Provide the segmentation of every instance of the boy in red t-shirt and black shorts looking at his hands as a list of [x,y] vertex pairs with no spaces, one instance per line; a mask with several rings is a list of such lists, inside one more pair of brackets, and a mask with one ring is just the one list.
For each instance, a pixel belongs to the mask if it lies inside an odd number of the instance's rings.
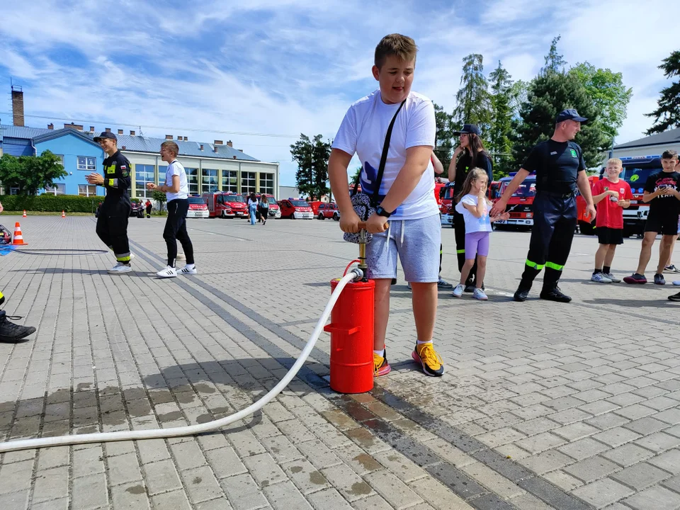
[[597,283],[620,283],[611,274],[616,245],[623,244],[623,209],[630,206],[633,193],[628,183],[618,179],[623,166],[621,159],[607,162],[604,179],[593,186],[593,203],[597,204],[595,227],[600,244],[595,253],[595,272],[590,280]]

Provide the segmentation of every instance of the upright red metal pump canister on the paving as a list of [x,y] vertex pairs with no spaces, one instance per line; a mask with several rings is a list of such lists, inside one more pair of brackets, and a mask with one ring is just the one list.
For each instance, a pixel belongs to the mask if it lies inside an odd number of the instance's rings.
[[[339,278],[331,280],[331,293]],[[331,312],[324,331],[331,334],[331,390],[373,390],[373,297],[375,282],[350,282]]]

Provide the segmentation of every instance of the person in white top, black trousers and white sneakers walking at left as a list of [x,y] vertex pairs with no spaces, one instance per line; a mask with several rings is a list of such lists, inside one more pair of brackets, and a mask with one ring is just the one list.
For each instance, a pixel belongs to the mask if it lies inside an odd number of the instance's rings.
[[148,183],[150,190],[163,191],[168,198],[168,219],[165,222],[163,238],[168,246],[168,266],[161,269],[156,276],[159,278],[175,278],[177,270],[175,263],[177,259],[177,239],[182,244],[184,255],[186,256],[186,266],[179,273],[196,274],[196,264],[193,261],[193,245],[189,234],[186,232],[186,212],[189,209],[189,186],[186,179],[184,166],[177,161],[179,147],[175,142],[166,140],[161,144],[161,158],[168,163],[165,176],[165,184],[157,186]]

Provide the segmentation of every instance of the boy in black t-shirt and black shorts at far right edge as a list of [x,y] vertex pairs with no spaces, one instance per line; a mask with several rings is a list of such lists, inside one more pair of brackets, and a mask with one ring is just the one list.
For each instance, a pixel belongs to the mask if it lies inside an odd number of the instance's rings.
[[645,238],[642,239],[638,269],[633,276],[623,278],[625,283],[647,283],[645,268],[652,257],[652,244],[657,234],[662,234],[662,247],[659,253],[659,265],[654,275],[654,283],[665,285],[664,266],[671,254],[673,239],[678,235],[678,215],[680,213],[680,173],[675,171],[678,153],[667,150],[661,155],[663,170],[650,175],[645,183],[645,194],[642,200],[650,204],[650,214],[645,223]]

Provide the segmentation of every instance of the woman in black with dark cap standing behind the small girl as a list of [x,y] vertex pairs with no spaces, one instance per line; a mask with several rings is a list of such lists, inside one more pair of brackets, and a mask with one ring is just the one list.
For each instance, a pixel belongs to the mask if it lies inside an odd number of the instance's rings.
[[[448,180],[453,182],[453,206],[455,206],[458,193],[463,191],[463,183],[468,172],[473,168],[480,168],[487,172],[489,186],[494,180],[491,159],[482,145],[480,138],[480,128],[474,124],[464,124],[463,129],[453,132],[460,135],[460,144],[456,147],[448,166]],[[460,212],[455,208],[451,209],[453,214],[453,228],[455,229],[455,253],[458,258],[458,271],[463,271],[465,263],[465,220]],[[475,277],[477,276],[477,261],[470,269],[470,276],[465,282],[465,292],[475,290]]]

